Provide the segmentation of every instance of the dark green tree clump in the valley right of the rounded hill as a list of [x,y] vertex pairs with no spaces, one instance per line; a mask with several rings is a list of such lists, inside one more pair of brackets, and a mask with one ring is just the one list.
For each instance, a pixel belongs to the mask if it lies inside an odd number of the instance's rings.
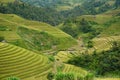
[[82,37],[86,40],[86,42],[89,42],[90,39],[100,34],[100,30],[98,28],[94,28],[93,26],[96,24],[93,23],[95,22],[87,21],[84,18],[79,21],[67,20],[62,26],[60,26],[60,29],[70,34],[74,38],[78,38],[82,34],[86,34],[82,35]]

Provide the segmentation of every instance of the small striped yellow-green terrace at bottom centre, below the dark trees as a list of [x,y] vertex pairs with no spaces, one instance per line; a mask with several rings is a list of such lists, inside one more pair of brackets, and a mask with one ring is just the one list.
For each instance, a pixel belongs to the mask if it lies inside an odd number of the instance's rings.
[[75,73],[76,75],[80,74],[81,76],[85,76],[87,74],[87,71],[85,71],[84,69],[70,64],[65,64],[63,72],[64,73],[71,72],[71,73]]

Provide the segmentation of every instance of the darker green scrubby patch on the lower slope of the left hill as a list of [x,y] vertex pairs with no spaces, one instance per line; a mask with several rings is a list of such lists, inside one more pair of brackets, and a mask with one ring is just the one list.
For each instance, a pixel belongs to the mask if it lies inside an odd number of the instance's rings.
[[[47,31],[35,31],[24,27],[19,27],[18,34],[23,37],[23,40],[28,47],[33,50],[62,50],[76,44],[76,41],[71,36],[54,36]],[[64,33],[62,33],[64,34]],[[32,35],[32,37],[31,37]],[[27,38],[27,39],[26,39]],[[66,44],[66,45],[64,45]]]

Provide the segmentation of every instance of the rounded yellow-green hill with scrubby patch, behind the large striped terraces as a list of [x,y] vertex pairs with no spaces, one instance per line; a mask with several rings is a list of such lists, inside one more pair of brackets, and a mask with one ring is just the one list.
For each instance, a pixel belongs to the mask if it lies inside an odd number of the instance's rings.
[[27,49],[67,49],[76,44],[70,35],[55,27],[14,14],[0,14],[0,28],[0,36],[7,42]]

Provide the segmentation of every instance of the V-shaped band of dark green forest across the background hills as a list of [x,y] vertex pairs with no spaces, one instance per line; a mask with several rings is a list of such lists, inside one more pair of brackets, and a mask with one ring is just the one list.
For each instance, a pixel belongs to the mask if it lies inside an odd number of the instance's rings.
[[118,8],[119,5],[119,0],[116,0],[112,5],[104,1],[96,2],[95,0],[89,0],[84,1],[83,4],[73,9],[57,11],[52,7],[36,7],[16,0],[14,3],[7,3],[6,5],[0,3],[0,12],[17,14],[30,20],[42,21],[55,26],[64,22],[66,19],[75,18],[83,14],[99,14],[109,9]]

